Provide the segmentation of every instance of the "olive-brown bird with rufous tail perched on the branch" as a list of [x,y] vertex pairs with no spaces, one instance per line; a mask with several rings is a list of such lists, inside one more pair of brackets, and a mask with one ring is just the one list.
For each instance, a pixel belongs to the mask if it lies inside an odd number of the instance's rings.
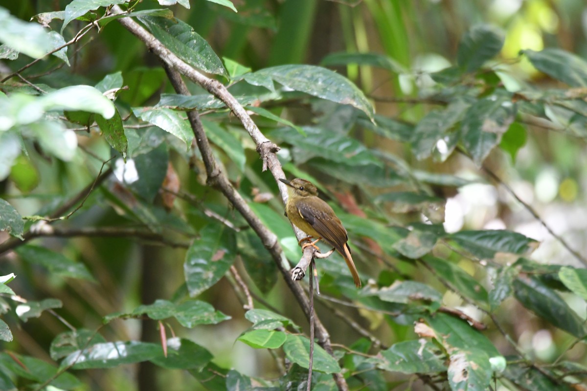
[[[323,239],[330,246],[342,255],[349,267],[350,274],[357,288],[361,287],[359,273],[350,256],[350,248],[346,243],[349,237],[346,235],[346,229],[342,226],[340,219],[336,217],[334,210],[330,205],[321,198],[318,198],[316,186],[305,179],[296,178],[292,181],[279,179],[289,186],[288,202],[285,205],[285,215],[309,236],[305,239],[316,238]],[[303,239],[302,239],[303,240]],[[315,243],[315,242],[313,242]],[[305,246],[303,246],[305,247]],[[302,248],[303,248],[302,247]]]

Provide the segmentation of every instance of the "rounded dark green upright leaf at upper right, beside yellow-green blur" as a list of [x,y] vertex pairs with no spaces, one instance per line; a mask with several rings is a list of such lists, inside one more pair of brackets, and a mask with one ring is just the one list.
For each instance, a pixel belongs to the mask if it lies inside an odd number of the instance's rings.
[[473,26],[458,45],[457,63],[463,72],[473,72],[496,56],[504,45],[504,33],[489,25]]

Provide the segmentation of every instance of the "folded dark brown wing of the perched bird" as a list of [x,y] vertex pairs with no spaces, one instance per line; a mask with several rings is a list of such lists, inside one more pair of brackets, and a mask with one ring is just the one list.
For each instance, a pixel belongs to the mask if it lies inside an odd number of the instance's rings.
[[[328,203],[325,202],[325,205],[331,209]],[[300,216],[320,234],[322,239],[344,253],[345,243],[348,240],[346,229],[333,212],[322,212],[305,202],[299,202],[296,207]]]

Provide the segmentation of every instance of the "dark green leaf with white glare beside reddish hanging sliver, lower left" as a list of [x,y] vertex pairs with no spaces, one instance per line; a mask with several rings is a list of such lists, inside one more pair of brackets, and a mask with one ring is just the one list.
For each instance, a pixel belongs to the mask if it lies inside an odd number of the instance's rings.
[[200,369],[214,358],[203,346],[185,338],[167,339],[167,357],[151,359],[155,365],[166,369]]

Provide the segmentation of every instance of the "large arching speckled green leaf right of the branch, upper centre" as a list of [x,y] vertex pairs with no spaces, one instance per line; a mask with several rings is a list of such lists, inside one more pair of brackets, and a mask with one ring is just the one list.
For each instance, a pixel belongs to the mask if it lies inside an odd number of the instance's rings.
[[340,104],[350,104],[373,118],[373,106],[365,94],[346,77],[331,70],[312,65],[281,65],[245,74],[244,79],[254,86],[264,86],[269,90],[271,80],[295,91],[330,100]]

